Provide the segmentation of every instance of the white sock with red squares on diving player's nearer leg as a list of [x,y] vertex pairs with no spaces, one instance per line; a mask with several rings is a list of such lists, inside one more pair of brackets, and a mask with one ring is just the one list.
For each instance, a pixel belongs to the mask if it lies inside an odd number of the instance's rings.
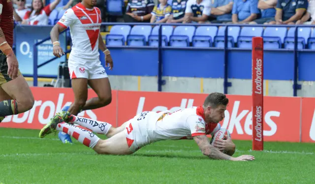
[[92,149],[95,147],[96,143],[99,140],[99,137],[97,137],[93,132],[79,128],[73,124],[68,124],[64,122],[58,123],[56,129],[71,135],[80,143]]

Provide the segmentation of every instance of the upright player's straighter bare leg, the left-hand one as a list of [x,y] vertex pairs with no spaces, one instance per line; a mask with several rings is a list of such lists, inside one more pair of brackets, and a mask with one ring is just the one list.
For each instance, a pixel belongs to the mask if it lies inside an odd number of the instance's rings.
[[74,93],[74,102],[70,105],[68,112],[77,115],[85,106],[88,99],[88,79],[75,78],[71,80],[72,90]]

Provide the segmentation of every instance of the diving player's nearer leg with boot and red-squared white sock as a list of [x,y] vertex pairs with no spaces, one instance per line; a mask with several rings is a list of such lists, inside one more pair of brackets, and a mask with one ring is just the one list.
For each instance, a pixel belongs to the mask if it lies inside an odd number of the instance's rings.
[[131,154],[129,150],[125,132],[120,132],[115,136],[101,140],[93,132],[82,129],[73,124],[64,123],[62,117],[57,114],[52,118],[50,123],[47,123],[40,131],[39,137],[44,138],[46,135],[63,131],[70,134],[73,138],[81,142],[87,147],[95,150],[99,154]]

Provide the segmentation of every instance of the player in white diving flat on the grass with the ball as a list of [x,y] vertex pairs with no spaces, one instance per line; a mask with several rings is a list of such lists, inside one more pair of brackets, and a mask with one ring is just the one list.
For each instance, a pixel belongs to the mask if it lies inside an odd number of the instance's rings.
[[[63,131],[95,150],[99,154],[132,154],[141,147],[161,140],[194,139],[201,152],[210,158],[233,161],[254,160],[252,155],[232,157],[235,145],[230,139],[221,140],[222,153],[212,146],[206,134],[214,134],[221,128],[228,99],[225,94],[211,93],[199,107],[186,108],[175,112],[142,112],[118,128],[111,124],[76,117],[63,111],[51,119],[40,131],[39,137]],[[79,128],[73,123],[87,127],[96,133],[105,134],[101,140],[93,132]]]

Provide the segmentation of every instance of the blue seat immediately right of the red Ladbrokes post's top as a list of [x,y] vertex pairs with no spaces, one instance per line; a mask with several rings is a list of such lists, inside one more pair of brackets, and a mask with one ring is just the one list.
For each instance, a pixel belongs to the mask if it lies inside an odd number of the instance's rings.
[[284,43],[287,28],[266,27],[263,33],[264,49],[280,49]]

